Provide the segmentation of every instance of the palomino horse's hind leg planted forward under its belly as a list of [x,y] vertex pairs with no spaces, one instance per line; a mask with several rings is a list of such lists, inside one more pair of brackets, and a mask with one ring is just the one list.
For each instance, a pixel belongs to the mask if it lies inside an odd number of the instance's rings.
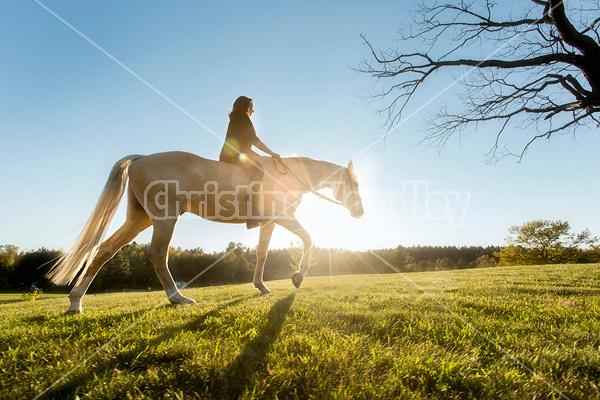
[[176,223],[176,218],[152,221],[154,232],[152,233],[152,242],[150,244],[150,250],[148,251],[148,257],[150,258],[154,270],[158,275],[158,280],[165,289],[165,292],[167,292],[167,297],[171,303],[195,303],[196,301],[189,297],[185,297],[181,294],[179,289],[177,289],[167,265],[169,259],[169,243],[173,237],[173,230],[175,229]]

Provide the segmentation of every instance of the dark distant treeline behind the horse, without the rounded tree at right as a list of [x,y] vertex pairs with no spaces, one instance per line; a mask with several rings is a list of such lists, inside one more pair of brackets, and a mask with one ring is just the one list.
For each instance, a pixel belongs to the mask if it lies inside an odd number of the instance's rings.
[[[148,246],[133,242],[121,249],[100,270],[90,290],[160,288],[154,268],[146,256]],[[373,253],[389,263],[391,268],[370,251],[314,248],[309,274],[380,274],[394,272],[394,268],[411,272],[492,267],[497,264],[494,253],[500,249],[499,246],[398,246],[375,250]],[[271,250],[265,266],[265,280],[291,277],[301,254],[299,247]],[[59,251],[44,248],[23,252],[15,246],[0,246],[0,289],[23,290],[29,289],[32,284],[44,290],[57,289],[48,282],[45,274],[60,255]],[[190,286],[251,282],[255,262],[254,250],[240,243],[230,243],[220,252],[175,248],[169,253],[169,268],[177,282],[190,282],[210,268]]]

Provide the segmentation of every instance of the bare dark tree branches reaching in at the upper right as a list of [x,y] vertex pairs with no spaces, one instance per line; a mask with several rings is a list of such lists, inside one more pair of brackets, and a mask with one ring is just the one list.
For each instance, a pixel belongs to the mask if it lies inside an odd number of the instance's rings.
[[[428,145],[444,147],[469,125],[497,121],[488,159],[506,153],[522,158],[538,139],[599,126],[600,10],[567,10],[563,0],[530,0],[531,7],[513,18],[498,15],[490,0],[432,6],[425,1],[413,15],[414,25],[400,32],[402,50],[376,50],[363,36],[371,59],[357,70],[393,82],[373,95],[388,101],[380,111],[387,113],[390,130],[425,82],[456,68],[464,72],[457,80],[462,108],[444,107],[427,119]],[[572,18],[577,14],[579,21]],[[415,41],[416,51],[404,50]],[[488,55],[464,57],[475,52]],[[506,149],[497,154],[509,124],[527,129],[531,137],[519,153]]]

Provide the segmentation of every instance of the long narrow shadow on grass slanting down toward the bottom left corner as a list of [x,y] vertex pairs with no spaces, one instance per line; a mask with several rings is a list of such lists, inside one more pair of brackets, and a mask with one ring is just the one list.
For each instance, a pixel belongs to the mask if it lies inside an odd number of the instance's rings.
[[[90,360],[90,363],[93,364],[93,370],[87,370],[83,372],[73,371],[73,375],[66,378],[65,382],[59,383],[54,388],[50,389],[43,398],[52,398],[52,399],[65,399],[65,398],[74,398],[77,395],[84,394],[86,391],[86,386],[89,382],[97,380],[98,377],[105,376],[109,374],[111,371],[115,370],[117,367],[119,369],[135,369],[129,367],[131,363],[144,351],[145,348],[158,346],[162,342],[166,342],[170,339],[173,339],[177,334],[183,331],[192,331],[200,329],[206,320],[210,317],[219,316],[227,308],[236,306],[237,304],[249,300],[255,296],[241,296],[234,300],[231,300],[227,303],[221,304],[216,308],[207,311],[206,313],[198,316],[194,320],[184,324],[177,325],[165,328],[162,331],[162,334],[150,341],[141,342],[135,348],[120,353],[116,357],[105,361],[98,362],[98,360]],[[168,306],[167,306],[168,307]],[[135,314],[141,314],[136,312]],[[123,316],[121,316],[122,318]],[[117,318],[117,316],[115,316]],[[120,318],[120,319],[121,319]],[[163,360],[154,360],[154,361],[162,361],[162,362],[175,362],[178,361],[179,355],[174,354],[172,357]],[[83,366],[82,368],[85,368]],[[69,371],[65,371],[65,373],[69,373]]]

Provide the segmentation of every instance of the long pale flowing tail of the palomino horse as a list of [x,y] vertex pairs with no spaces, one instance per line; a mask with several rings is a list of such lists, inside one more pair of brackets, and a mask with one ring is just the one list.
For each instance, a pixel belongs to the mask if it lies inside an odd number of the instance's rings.
[[90,215],[83,231],[79,234],[75,244],[54,264],[47,274],[50,281],[56,285],[68,285],[81,271],[77,283],[85,275],[85,271],[92,264],[98,247],[106,234],[110,221],[115,215],[117,206],[125,192],[127,184],[127,170],[132,162],[141,155],[130,155],[119,160],[110,171],[106,185],[100,194],[96,208]]

